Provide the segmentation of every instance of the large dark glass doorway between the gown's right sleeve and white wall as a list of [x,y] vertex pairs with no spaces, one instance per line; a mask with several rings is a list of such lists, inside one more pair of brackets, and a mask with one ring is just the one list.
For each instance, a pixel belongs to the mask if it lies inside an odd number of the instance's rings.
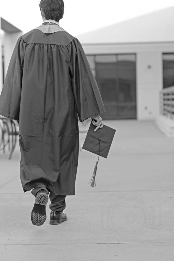
[[96,80],[106,108],[105,119],[136,119],[136,59],[96,55]]

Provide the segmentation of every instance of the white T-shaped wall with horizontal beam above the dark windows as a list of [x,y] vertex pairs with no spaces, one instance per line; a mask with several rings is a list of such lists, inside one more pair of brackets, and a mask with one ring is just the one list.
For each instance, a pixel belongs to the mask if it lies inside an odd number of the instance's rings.
[[[162,53],[173,52],[173,43],[85,45],[86,55],[135,53],[137,79],[137,119],[159,115],[159,92],[163,88]],[[148,68],[151,66],[151,68]]]

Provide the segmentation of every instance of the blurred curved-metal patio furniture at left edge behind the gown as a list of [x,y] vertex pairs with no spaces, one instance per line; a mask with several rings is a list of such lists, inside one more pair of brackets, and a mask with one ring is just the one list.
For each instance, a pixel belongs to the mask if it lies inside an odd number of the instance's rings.
[[16,146],[17,135],[19,135],[19,130],[14,121],[0,117],[0,151],[5,153],[8,147],[8,151],[10,151],[9,159],[11,159]]

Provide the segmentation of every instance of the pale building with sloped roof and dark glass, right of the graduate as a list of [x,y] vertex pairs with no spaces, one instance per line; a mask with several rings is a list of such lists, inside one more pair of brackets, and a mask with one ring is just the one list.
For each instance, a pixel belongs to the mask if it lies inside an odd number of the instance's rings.
[[174,8],[79,35],[106,107],[104,119],[156,119],[174,85]]

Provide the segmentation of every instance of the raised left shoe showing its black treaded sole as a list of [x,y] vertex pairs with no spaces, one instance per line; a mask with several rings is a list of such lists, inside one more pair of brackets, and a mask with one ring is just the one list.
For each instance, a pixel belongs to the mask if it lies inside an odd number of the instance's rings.
[[41,226],[46,220],[46,204],[48,195],[46,192],[39,191],[35,198],[35,204],[31,211],[31,222],[35,226]]

